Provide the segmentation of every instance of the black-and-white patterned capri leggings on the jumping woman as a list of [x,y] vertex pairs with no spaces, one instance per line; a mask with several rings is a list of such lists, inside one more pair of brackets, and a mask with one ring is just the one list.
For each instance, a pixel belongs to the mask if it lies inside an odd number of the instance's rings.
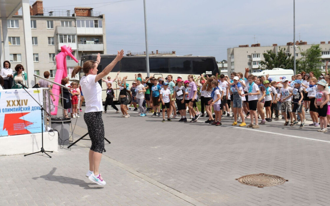
[[102,154],[104,149],[104,124],[102,120],[102,112],[84,113],[83,119],[87,125],[89,138],[92,141],[90,150]]

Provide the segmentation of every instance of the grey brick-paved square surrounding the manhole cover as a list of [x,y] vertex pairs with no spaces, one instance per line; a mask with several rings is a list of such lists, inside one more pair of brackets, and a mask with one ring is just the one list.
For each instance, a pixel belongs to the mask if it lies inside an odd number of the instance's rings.
[[[282,121],[253,130],[232,127],[230,118],[215,127],[205,118],[162,123],[130,114],[103,114],[111,141],[100,165],[105,187],[84,176],[90,141],[81,140],[51,159],[0,157],[0,205],[329,205],[330,132]],[[72,122],[76,140],[87,130],[83,118]],[[254,173],[289,181],[265,188],[235,181]]]

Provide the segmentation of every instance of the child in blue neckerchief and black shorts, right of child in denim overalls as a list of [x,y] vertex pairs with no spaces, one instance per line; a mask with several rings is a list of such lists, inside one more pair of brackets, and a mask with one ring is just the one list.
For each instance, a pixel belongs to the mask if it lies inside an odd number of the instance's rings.
[[[260,94],[259,87],[256,83],[254,83],[254,75],[250,74],[248,75],[248,84],[247,84],[247,90],[248,90],[248,106],[250,108],[250,119],[251,124],[248,125],[248,127],[251,127],[253,129],[259,128],[258,125],[258,116],[257,116],[257,103],[258,103],[258,95]],[[255,125],[253,125],[253,117],[255,120]]]

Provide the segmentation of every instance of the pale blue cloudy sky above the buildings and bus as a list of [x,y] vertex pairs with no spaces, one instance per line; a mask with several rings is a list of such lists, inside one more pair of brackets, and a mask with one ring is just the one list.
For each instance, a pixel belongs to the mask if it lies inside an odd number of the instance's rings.
[[[45,9],[92,7],[106,16],[107,53],[143,52],[143,0],[44,1]],[[293,41],[293,0],[146,0],[149,52],[215,56],[240,44],[285,45]],[[32,3],[31,3],[32,4]],[[63,6],[63,7],[58,7]],[[296,0],[296,39],[330,41],[328,0]],[[56,7],[56,8],[55,8]],[[255,35],[255,39],[254,39]]]

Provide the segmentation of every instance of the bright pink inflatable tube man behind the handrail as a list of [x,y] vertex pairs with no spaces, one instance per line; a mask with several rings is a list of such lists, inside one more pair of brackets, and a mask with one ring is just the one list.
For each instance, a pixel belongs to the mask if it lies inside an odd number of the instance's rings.
[[[61,80],[68,76],[67,73],[67,68],[66,68],[66,56],[69,55],[72,59],[74,59],[77,63],[78,60],[76,59],[76,57],[71,53],[71,47],[67,47],[66,45],[61,46],[61,52],[58,53],[55,58],[56,58],[56,74],[55,74],[55,82],[56,83],[61,83]],[[52,88],[52,93],[59,96],[60,94],[60,87],[56,84],[53,85]],[[59,97],[55,96],[55,110],[53,112],[51,112],[51,115],[57,115],[57,106],[58,106],[58,99]],[[64,101],[64,100],[62,100]]]

